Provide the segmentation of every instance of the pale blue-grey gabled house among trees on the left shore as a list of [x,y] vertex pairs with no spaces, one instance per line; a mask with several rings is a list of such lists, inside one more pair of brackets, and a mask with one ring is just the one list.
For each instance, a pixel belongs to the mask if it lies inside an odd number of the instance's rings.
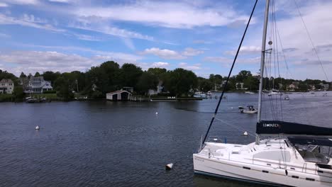
[[45,81],[44,77],[33,77],[30,79],[20,78],[20,84],[23,86],[24,93],[42,94],[44,91],[52,90],[50,81]]

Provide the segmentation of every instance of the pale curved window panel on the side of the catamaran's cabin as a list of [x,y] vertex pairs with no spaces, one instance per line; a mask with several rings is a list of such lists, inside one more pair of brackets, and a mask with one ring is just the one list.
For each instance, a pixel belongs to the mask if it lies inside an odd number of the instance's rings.
[[290,162],[290,153],[289,151],[269,150],[254,154],[254,158]]

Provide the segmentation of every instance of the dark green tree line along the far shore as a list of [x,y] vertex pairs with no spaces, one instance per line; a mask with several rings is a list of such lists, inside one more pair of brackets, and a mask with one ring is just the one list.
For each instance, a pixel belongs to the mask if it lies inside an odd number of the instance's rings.
[[[164,93],[168,93],[170,96],[191,96],[194,91],[221,91],[223,82],[226,80],[226,77],[222,77],[220,74],[210,74],[207,79],[197,77],[194,72],[182,68],[167,70],[156,67],[143,71],[135,64],[126,63],[120,66],[114,61],[107,61],[99,66],[91,67],[87,72],[47,71],[41,74],[35,72],[34,75],[26,75],[22,72],[20,75],[21,78],[31,76],[43,76],[46,81],[51,82],[53,92],[65,100],[73,98],[73,92],[89,96],[89,98],[105,98],[106,93],[122,89],[124,86],[133,87],[134,94],[148,95],[149,89],[156,89],[158,84],[163,86]],[[14,94],[23,92],[23,89],[18,86],[18,77],[15,75],[0,70],[1,79],[12,79],[15,82],[16,92],[14,91]],[[294,81],[299,80],[264,78],[263,88],[286,90],[287,86]],[[308,84],[319,86],[321,82],[326,84],[326,81],[321,80],[299,81],[299,89],[306,90]],[[242,70],[230,77],[226,91],[238,90],[239,84],[242,84],[243,88],[257,91],[259,80],[250,71]]]

